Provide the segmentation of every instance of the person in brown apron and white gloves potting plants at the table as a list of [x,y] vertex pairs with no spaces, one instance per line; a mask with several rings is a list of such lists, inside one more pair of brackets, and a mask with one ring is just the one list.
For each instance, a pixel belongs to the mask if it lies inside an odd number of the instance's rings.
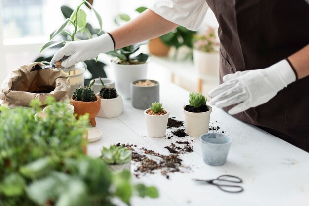
[[305,0],[153,0],[148,10],[97,38],[67,43],[51,63],[74,64],[182,25],[207,9],[218,23],[220,85],[210,103],[309,152],[309,4]]

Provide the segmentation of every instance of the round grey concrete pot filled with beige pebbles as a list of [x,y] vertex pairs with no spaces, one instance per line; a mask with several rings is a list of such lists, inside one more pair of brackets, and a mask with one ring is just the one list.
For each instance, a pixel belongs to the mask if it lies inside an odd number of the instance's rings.
[[146,81],[146,79],[131,82],[131,102],[136,109],[148,109],[152,103],[160,102],[160,84],[157,81],[154,86],[136,86],[138,81]]

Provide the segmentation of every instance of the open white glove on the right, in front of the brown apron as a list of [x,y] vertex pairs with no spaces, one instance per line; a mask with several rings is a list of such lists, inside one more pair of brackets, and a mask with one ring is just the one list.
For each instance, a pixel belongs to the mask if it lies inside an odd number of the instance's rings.
[[237,114],[272,99],[280,90],[296,80],[296,75],[286,60],[268,68],[237,71],[223,77],[223,84],[209,92],[210,103],[226,107],[240,103],[228,111]]

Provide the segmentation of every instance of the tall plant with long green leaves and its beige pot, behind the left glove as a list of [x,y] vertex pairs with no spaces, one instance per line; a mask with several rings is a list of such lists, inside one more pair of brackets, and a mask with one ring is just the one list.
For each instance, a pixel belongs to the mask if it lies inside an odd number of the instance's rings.
[[[97,32],[97,35],[102,34],[102,18],[100,14],[92,7],[92,5],[88,1],[84,0],[77,6],[74,11],[71,11],[70,9],[68,9],[68,7],[62,8],[63,10],[65,10],[65,12],[63,11],[63,13],[65,14],[65,16],[67,16],[67,18],[53,33],[50,34],[49,42],[47,42],[42,47],[40,52],[42,52],[46,48],[54,47],[57,45],[64,45],[68,41],[82,40],[79,38],[79,34],[85,34],[89,39],[93,37],[94,30],[91,25],[87,24],[87,14],[83,9],[81,9],[82,5],[86,5],[93,10],[100,25],[100,29],[96,30],[95,32]],[[71,13],[70,17],[68,17],[69,13]],[[66,34],[69,40],[58,38],[61,34]],[[69,97],[73,95],[73,92],[76,88],[84,86],[84,72],[86,69],[85,67],[85,64],[77,64],[73,71],[69,71],[69,80],[71,85]],[[68,70],[64,71],[68,72]]]

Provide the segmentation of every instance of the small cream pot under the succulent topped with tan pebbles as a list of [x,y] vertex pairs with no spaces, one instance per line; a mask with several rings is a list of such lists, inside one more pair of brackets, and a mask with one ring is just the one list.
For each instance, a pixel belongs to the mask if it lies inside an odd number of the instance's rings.
[[146,109],[144,111],[148,136],[154,138],[164,137],[166,133],[169,112],[164,115],[156,116],[147,114],[147,111],[149,110],[150,109]]

